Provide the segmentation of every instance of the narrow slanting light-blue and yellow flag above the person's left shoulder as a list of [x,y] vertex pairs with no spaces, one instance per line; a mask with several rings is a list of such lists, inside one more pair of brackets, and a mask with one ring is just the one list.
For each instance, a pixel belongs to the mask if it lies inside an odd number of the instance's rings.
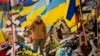
[[46,0],[39,0],[34,4],[34,8],[26,16],[27,20],[21,24],[22,27],[26,27],[31,24],[37,15],[40,15],[41,12],[46,8]]

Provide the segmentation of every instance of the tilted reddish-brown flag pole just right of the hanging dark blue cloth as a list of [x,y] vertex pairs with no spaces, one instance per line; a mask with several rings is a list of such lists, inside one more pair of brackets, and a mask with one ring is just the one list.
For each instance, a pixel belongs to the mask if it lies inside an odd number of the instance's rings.
[[81,20],[81,31],[82,31],[82,34],[81,34],[81,38],[80,40],[82,41],[81,42],[81,47],[82,47],[82,51],[83,51],[83,54],[84,56],[87,56],[87,39],[86,39],[86,35],[85,35],[85,28],[84,28],[84,21],[83,21],[83,14],[82,14],[82,7],[81,7],[81,0],[80,1],[80,5],[79,5],[79,12],[80,12],[80,20]]

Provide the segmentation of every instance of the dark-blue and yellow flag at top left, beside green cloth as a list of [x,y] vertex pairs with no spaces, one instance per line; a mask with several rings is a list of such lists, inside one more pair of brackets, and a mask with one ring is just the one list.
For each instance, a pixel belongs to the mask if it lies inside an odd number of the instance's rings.
[[17,0],[17,4],[20,4],[20,3],[23,3],[22,6],[19,6],[19,7],[23,7],[21,8],[21,12],[19,12],[19,14],[21,16],[25,16],[27,15],[31,10],[32,8],[34,8],[34,4],[37,3],[38,0]]

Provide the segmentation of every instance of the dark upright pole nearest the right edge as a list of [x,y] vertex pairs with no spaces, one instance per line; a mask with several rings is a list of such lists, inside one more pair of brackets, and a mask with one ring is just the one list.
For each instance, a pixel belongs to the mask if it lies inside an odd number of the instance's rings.
[[97,22],[97,2],[94,1],[95,5],[94,5],[94,14],[92,15],[93,17],[93,32],[94,32],[94,42],[95,44],[98,46],[98,22]]

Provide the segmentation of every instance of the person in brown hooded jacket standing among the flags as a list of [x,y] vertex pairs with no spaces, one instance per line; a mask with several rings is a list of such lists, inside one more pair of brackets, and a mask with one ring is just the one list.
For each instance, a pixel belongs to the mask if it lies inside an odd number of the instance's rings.
[[40,54],[43,55],[44,45],[47,39],[47,31],[46,26],[41,16],[36,16],[34,22],[27,28],[26,31],[32,30],[32,39],[33,39],[33,48],[35,51],[38,51],[38,47],[40,47]]

